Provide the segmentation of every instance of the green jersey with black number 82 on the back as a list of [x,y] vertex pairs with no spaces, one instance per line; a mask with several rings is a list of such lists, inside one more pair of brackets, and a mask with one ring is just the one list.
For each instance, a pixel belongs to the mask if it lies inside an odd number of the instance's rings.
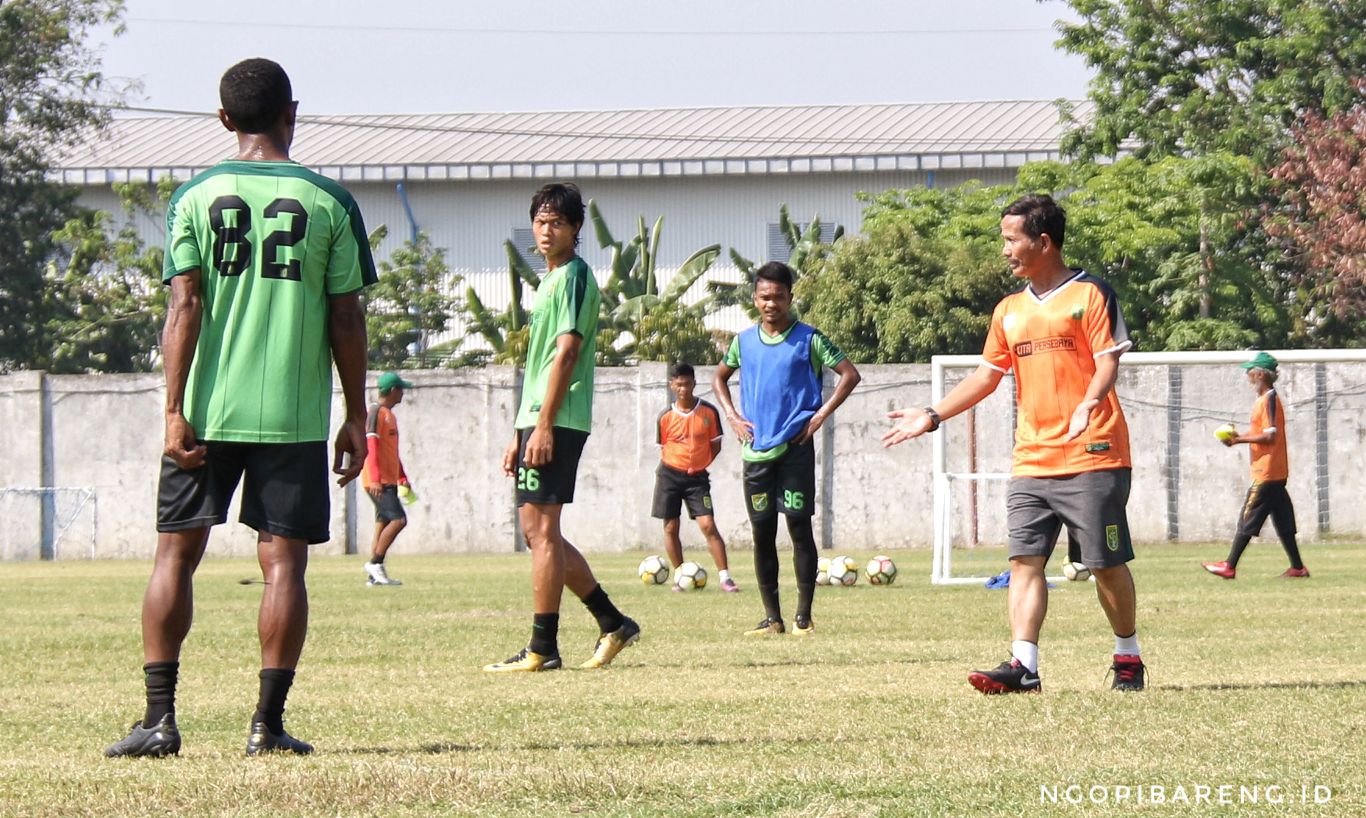
[[184,395],[199,440],[326,440],[328,298],[376,281],[361,210],[290,161],[225,161],[167,210],[163,280],[201,273],[204,318]]

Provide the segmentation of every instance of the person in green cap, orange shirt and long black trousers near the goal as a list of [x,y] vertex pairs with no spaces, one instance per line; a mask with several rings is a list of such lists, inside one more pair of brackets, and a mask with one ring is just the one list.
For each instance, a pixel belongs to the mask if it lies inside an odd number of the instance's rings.
[[1205,571],[1224,579],[1233,579],[1238,560],[1249,541],[1262,533],[1266,518],[1272,518],[1276,535],[1280,537],[1290,568],[1281,574],[1287,579],[1307,578],[1309,568],[1299,559],[1295,545],[1295,505],[1290,501],[1285,481],[1290,479],[1290,455],[1285,451],[1285,406],[1276,395],[1276,358],[1269,352],[1258,352],[1243,365],[1247,382],[1257,391],[1253,403],[1253,421],[1247,434],[1223,438],[1225,447],[1246,442],[1253,449],[1253,485],[1247,489],[1243,511],[1238,520],[1238,534],[1233,548],[1223,563],[1202,563]]

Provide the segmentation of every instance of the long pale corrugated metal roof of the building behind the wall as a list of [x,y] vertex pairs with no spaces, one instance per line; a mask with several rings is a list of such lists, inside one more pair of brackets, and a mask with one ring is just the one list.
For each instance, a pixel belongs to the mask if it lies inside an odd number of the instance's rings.
[[[337,179],[818,173],[1015,167],[1061,137],[1056,102],[915,102],[301,116],[292,153]],[[216,116],[117,119],[56,168],[74,184],[189,176],[231,147]]]

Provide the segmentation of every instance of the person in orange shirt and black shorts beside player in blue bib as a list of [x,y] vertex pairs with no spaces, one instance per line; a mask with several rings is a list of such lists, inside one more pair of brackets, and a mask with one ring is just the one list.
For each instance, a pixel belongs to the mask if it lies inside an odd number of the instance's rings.
[[[716,527],[712,512],[712,478],[706,467],[721,451],[721,414],[710,403],[699,399],[697,373],[690,363],[669,366],[669,392],[673,403],[660,412],[654,427],[654,442],[660,445],[660,467],[654,471],[654,505],[650,516],[664,520],[664,550],[678,569],[683,564],[683,541],[679,539],[682,511],[697,520],[706,538],[706,549],[716,563],[721,590],[734,594],[740,590],[731,579],[725,561],[725,539]],[[679,586],[673,586],[679,590]]]

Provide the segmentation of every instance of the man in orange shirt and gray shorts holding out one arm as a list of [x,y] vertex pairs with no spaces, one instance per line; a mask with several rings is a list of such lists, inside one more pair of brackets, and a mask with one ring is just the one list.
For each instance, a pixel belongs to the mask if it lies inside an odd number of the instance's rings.
[[1011,272],[1029,284],[996,305],[982,365],[943,400],[896,410],[882,437],[895,445],[938,429],[996,391],[1015,371],[1015,453],[1007,498],[1011,658],[967,680],[986,694],[1037,692],[1038,635],[1048,612],[1044,567],[1065,524],[1115,631],[1115,690],[1143,690],[1134,559],[1126,505],[1128,426],[1115,395],[1119,356],[1132,344],[1115,292],[1063,262],[1067,217],[1048,195],[1027,195],[1001,213]]

